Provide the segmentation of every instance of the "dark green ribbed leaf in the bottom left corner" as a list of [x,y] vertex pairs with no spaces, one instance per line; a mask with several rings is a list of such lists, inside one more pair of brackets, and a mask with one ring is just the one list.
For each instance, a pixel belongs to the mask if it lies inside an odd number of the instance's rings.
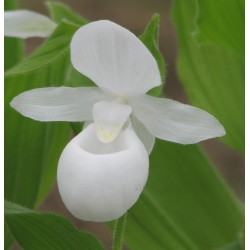
[[5,201],[5,219],[23,249],[103,249],[91,234],[77,230],[62,216],[38,213]]

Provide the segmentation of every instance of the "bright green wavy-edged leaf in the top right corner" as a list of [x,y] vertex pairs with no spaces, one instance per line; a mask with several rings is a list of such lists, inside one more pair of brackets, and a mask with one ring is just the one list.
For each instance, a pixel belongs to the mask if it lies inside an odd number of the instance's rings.
[[195,38],[200,44],[218,44],[244,57],[244,0],[197,0]]

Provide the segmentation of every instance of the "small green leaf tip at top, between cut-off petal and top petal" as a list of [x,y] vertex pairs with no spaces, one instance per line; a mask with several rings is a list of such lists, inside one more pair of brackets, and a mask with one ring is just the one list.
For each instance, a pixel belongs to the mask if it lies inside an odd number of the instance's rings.
[[50,17],[57,23],[60,23],[63,19],[69,22],[73,22],[78,25],[84,25],[88,23],[88,20],[77,15],[67,5],[60,2],[47,2],[46,3],[50,12]]

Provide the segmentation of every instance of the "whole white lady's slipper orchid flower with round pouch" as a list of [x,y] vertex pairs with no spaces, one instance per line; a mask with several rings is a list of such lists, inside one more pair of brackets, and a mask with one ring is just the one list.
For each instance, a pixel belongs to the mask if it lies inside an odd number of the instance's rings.
[[146,94],[161,84],[157,62],[125,28],[106,20],[87,24],[70,51],[74,68],[98,87],[33,89],[11,106],[39,121],[90,123],[58,164],[59,192],[77,218],[113,220],[136,202],[155,137],[191,144],[225,134],[206,111]]

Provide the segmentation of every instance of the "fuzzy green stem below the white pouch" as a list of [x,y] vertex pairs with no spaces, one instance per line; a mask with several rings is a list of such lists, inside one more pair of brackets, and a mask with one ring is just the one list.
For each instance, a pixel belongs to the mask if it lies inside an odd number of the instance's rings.
[[125,232],[127,220],[127,213],[124,214],[121,218],[117,219],[114,226],[113,232],[113,250],[121,250],[122,249],[122,241],[123,235]]

